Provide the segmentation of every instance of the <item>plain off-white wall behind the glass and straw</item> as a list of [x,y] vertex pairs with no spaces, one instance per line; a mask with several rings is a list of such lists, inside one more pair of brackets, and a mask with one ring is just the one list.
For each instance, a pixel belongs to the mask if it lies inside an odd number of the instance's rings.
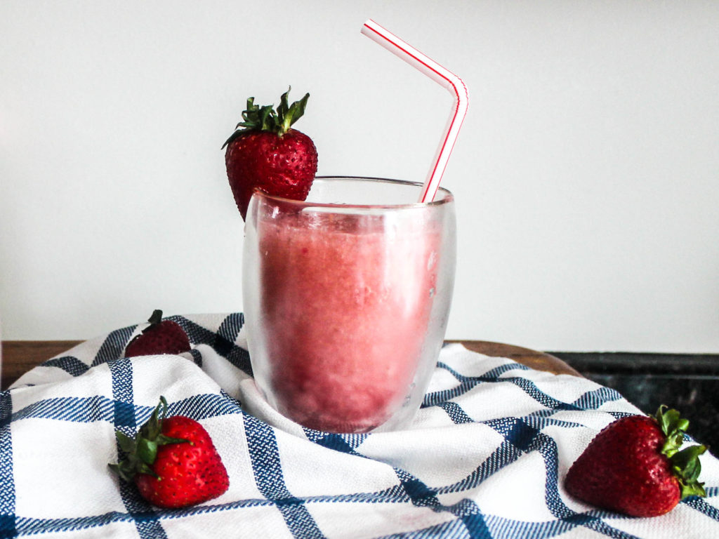
[[448,338],[719,352],[719,2],[0,3],[0,317],[91,338],[242,310],[221,144],[311,93],[319,174],[424,180],[464,79]]

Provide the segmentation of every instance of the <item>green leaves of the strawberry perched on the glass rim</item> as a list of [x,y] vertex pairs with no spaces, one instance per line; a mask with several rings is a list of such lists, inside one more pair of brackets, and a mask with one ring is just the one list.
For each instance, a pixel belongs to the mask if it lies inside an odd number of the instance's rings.
[[305,114],[307,100],[310,97],[310,94],[306,93],[300,101],[290,105],[288,96],[291,89],[290,86],[288,91],[280,96],[280,106],[276,111],[274,105],[255,105],[255,98],[248,98],[247,108],[242,112],[242,121],[235,126],[234,133],[222,144],[222,147],[226,147],[247,131],[267,131],[277,134],[278,137],[288,132],[290,127]]

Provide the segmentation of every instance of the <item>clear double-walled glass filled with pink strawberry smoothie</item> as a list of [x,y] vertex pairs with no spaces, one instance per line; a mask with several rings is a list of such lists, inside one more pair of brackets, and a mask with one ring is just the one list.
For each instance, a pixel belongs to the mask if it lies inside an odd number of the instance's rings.
[[335,433],[408,425],[444,341],[454,198],[421,184],[316,178],[306,201],[255,192],[243,254],[255,382],[275,410]]

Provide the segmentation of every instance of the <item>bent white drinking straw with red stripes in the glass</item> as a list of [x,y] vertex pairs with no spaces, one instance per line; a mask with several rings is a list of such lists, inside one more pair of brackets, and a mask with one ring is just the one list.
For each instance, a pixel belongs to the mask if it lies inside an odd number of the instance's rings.
[[457,141],[459,128],[462,127],[464,116],[467,115],[467,106],[469,105],[469,95],[467,87],[464,86],[462,79],[446,68],[436,63],[430,57],[423,55],[416,48],[409,45],[406,41],[395,36],[388,29],[381,27],[372,19],[367,20],[362,27],[362,34],[370,37],[379,43],[385,49],[405,60],[408,64],[420,70],[436,83],[441,84],[449,90],[454,96],[454,111],[449,117],[446,129],[444,129],[444,137],[437,148],[437,154],[434,163],[429,171],[427,179],[424,181],[420,202],[430,202],[434,200],[439,182],[444,174],[449,155],[452,153],[454,142]]

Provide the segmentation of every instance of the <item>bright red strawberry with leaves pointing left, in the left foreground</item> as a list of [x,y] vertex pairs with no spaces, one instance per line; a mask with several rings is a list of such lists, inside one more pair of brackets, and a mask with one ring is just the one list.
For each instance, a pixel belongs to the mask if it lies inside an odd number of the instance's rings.
[[167,410],[168,402],[160,397],[135,438],[117,430],[125,458],[109,466],[124,481],[134,482],[139,494],[157,507],[186,507],[223,494],[229,479],[209,434],[183,415],[165,418]]

